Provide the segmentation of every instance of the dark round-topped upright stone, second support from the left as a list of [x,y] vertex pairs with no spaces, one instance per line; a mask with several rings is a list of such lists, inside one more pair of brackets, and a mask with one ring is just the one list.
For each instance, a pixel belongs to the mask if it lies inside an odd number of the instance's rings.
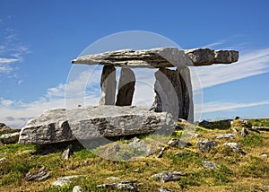
[[129,68],[121,68],[117,92],[117,106],[132,105],[135,75]]

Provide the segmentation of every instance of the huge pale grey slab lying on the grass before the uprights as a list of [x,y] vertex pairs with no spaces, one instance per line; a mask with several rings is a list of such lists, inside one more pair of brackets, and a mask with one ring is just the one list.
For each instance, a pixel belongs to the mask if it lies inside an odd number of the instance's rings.
[[169,113],[156,113],[144,107],[107,105],[86,109],[53,109],[22,127],[19,143],[53,144],[72,141],[75,137],[89,140],[103,136],[139,135],[175,125]]

